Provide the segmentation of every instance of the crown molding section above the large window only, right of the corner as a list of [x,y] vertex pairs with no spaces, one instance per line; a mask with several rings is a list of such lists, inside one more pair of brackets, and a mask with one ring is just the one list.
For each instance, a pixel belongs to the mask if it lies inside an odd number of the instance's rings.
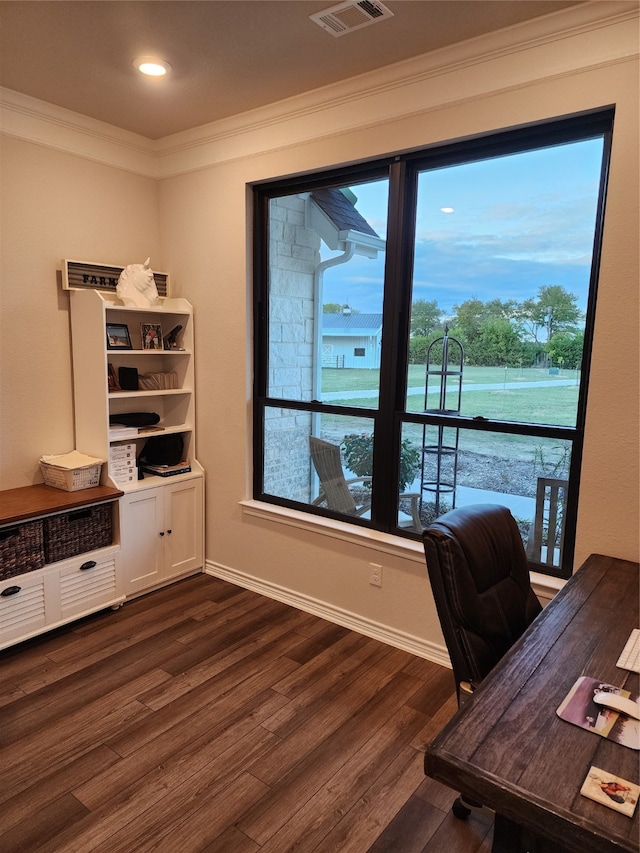
[[638,19],[637,0],[588,3],[167,136],[159,146],[161,174],[222,165],[635,60]]

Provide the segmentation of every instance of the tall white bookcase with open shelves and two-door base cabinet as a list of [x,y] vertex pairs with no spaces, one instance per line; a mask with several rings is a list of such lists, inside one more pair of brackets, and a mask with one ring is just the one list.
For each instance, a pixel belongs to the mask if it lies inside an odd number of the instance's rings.
[[[157,306],[125,306],[115,293],[71,291],[71,329],[74,372],[76,446],[107,460],[112,447],[135,443],[136,456],[151,435],[179,433],[184,461],[191,471],[170,477],[145,473],[143,479],[113,479],[103,466],[103,483],[124,492],[120,499],[119,565],[126,595],[136,595],[178,577],[201,571],[204,565],[204,472],[195,458],[195,395],[193,310],[186,299],[160,298]],[[130,346],[108,343],[107,324],[126,326]],[[176,346],[145,349],[143,325],[160,326],[162,335],[180,327]],[[118,339],[120,340],[120,339]],[[108,384],[109,365],[135,368],[138,388],[122,390]],[[151,376],[170,377],[167,387],[145,390]],[[110,418],[151,412],[158,429],[140,429],[133,438],[110,433]]]

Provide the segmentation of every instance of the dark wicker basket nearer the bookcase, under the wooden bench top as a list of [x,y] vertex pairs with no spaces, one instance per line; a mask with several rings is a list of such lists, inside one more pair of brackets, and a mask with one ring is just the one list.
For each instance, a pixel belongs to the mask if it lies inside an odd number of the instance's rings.
[[66,560],[112,544],[111,504],[50,515],[44,519],[44,551],[47,563]]

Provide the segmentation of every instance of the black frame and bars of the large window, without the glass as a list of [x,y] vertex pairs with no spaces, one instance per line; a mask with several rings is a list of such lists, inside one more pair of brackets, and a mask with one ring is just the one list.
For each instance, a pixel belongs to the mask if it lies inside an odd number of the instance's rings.
[[[376,488],[380,483],[398,482],[400,442],[403,423],[440,424],[465,430],[490,431],[505,434],[524,434],[540,438],[569,440],[572,446],[569,487],[565,503],[565,540],[562,565],[531,568],[559,578],[571,575],[575,552],[575,528],[580,486],[580,471],[584,444],[589,371],[595,325],[595,310],[604,228],[604,211],[608,170],[613,138],[615,108],[602,107],[539,123],[500,130],[472,138],[442,142],[418,151],[385,156],[366,163],[329,168],[314,174],[289,176],[253,185],[253,295],[254,295],[254,384],[253,384],[253,497],[313,515],[323,515],[348,521],[354,525],[405,538],[417,539],[419,534],[397,526],[398,495],[393,489]],[[421,170],[483,160],[505,154],[525,152],[546,146],[578,142],[602,137],[603,154],[598,190],[595,233],[587,309],[585,314],[584,353],[579,386],[575,427],[507,422],[489,418],[461,415],[412,413],[405,410],[407,359],[409,347],[411,284],[413,275],[413,240],[417,176]],[[319,401],[300,401],[268,396],[268,287],[269,287],[269,202],[296,192],[312,192],[332,186],[355,186],[379,178],[389,180],[388,227],[386,235],[385,280],[383,301],[383,336],[380,363],[379,403],[377,408],[358,407],[359,417],[374,422],[374,466],[371,519],[345,518],[327,509],[300,504],[264,491],[263,457],[265,410],[268,407],[320,412],[334,415],[353,415],[352,407],[325,404]]]

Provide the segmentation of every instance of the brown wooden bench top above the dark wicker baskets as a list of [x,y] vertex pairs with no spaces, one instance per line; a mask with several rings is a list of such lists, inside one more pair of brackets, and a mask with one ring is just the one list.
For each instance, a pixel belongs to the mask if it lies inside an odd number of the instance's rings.
[[114,501],[124,492],[111,486],[93,486],[76,492],[65,492],[38,483],[19,489],[0,491],[0,525],[28,521],[56,512],[65,512],[90,504]]

